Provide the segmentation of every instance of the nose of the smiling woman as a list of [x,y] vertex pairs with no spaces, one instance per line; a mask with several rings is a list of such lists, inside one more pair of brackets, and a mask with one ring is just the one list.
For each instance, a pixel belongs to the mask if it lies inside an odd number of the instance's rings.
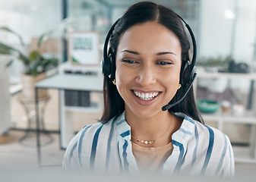
[[141,67],[137,74],[136,82],[141,84],[141,86],[150,86],[156,83],[156,71],[154,71],[154,67],[148,65]]

